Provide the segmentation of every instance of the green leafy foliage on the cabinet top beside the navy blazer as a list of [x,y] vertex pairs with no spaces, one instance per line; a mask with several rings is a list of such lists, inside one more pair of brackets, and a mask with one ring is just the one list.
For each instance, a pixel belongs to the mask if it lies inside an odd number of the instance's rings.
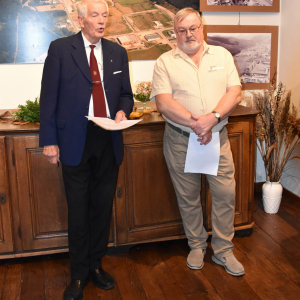
[[25,122],[39,122],[40,121],[40,103],[38,97],[34,101],[27,100],[26,105],[19,105],[19,110],[13,112],[15,120]]

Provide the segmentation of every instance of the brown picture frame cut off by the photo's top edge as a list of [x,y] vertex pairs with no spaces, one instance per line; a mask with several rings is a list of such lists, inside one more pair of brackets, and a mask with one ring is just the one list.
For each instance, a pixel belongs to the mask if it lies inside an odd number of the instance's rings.
[[[259,3],[260,1],[268,2],[272,1],[271,6],[254,6],[254,5],[209,5],[208,1],[213,2],[214,0],[200,0],[200,11],[222,11],[222,12],[279,12],[280,11],[280,0],[251,0]],[[226,2],[237,1],[237,0],[220,0]],[[263,3],[262,2],[262,3]]]

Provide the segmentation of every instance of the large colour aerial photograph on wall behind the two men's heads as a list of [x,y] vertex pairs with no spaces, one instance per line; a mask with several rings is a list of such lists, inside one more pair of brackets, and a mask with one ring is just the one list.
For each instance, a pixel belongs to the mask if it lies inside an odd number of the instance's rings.
[[[49,44],[81,30],[80,0],[0,0],[0,64],[44,63]],[[196,5],[195,5],[196,1]],[[174,1],[172,1],[174,3]],[[105,38],[122,45],[129,60],[154,60],[176,47],[173,18],[199,0],[107,0]]]

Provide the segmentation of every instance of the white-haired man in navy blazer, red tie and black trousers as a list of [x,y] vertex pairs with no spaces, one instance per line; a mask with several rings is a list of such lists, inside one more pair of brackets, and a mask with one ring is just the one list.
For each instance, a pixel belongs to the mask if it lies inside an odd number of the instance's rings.
[[50,163],[62,163],[68,203],[72,280],[64,300],[83,299],[90,276],[102,289],[114,286],[101,258],[123,158],[122,132],[104,130],[85,117],[118,123],[133,107],[127,53],[103,38],[107,19],[104,0],[81,1],[82,31],[50,44],[43,71],[40,146]]

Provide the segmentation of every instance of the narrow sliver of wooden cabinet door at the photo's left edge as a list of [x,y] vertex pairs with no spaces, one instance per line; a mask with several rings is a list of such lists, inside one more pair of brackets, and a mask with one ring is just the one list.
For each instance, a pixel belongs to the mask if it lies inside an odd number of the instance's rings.
[[14,251],[5,137],[0,136],[0,253]]

